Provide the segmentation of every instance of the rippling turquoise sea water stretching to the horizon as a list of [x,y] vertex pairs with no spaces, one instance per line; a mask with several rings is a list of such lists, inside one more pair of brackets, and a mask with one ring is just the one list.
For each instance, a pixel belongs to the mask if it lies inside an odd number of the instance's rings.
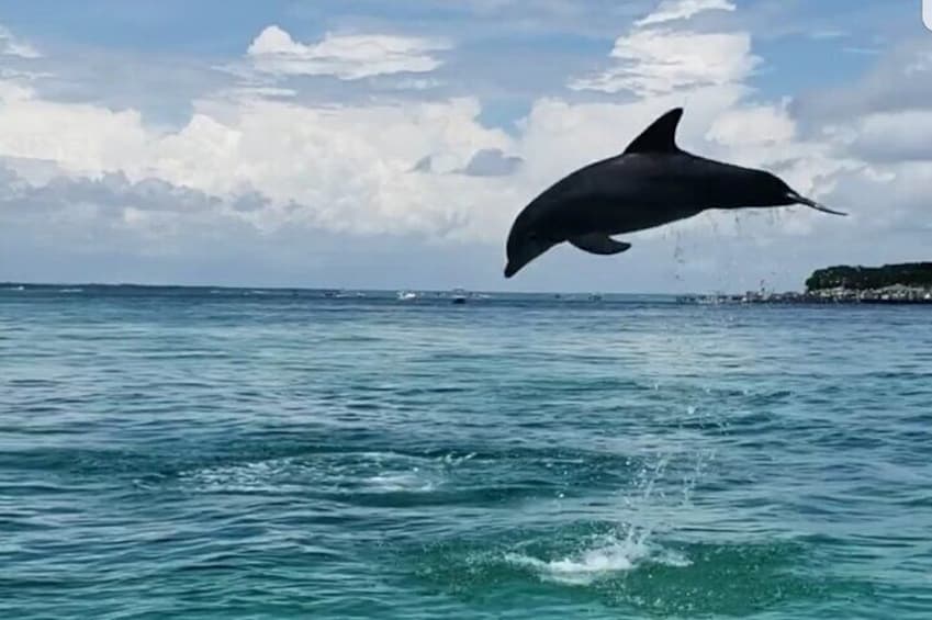
[[0,291],[0,617],[932,617],[932,315]]

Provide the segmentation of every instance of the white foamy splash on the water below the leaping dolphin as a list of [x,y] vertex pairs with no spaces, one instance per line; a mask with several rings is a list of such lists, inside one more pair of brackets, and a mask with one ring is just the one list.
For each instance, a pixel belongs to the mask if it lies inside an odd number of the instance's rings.
[[530,568],[544,580],[585,586],[643,563],[685,567],[692,562],[683,554],[648,544],[645,537],[609,538],[599,546],[555,560],[541,560],[523,553],[506,553],[512,565]]

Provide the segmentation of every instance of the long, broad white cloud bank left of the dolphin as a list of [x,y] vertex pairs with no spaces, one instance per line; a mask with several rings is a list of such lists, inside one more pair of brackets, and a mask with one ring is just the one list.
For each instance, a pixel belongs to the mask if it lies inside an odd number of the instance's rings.
[[50,102],[7,86],[0,155],[50,160],[76,179],[161,179],[224,200],[250,188],[268,203],[233,211],[260,232],[311,226],[489,239],[501,230],[489,230],[483,214],[503,214],[504,226],[503,208],[521,198],[504,181],[411,172],[425,155],[442,172],[468,167],[485,148],[513,150],[504,132],[479,124],[472,99],[310,106],[222,97],[196,102],[180,131],[157,133],[134,111]]

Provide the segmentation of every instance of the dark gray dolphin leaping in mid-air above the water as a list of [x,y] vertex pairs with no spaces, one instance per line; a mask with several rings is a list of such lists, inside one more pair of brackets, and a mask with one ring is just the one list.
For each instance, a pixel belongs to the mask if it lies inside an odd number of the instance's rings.
[[631,247],[609,235],[685,219],[708,208],[805,204],[845,215],[799,195],[764,170],[705,159],[676,146],[682,108],[644,129],[624,153],[572,172],[534,199],[508,234],[505,278],[557,244],[596,255]]

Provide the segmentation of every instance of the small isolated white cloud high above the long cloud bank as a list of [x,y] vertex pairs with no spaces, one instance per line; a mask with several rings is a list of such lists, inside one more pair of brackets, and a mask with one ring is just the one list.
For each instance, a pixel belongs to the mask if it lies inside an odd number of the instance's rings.
[[431,53],[449,47],[446,41],[434,38],[333,33],[308,45],[271,25],[252,41],[247,54],[255,68],[267,74],[357,80],[388,74],[433,71],[441,61]]

